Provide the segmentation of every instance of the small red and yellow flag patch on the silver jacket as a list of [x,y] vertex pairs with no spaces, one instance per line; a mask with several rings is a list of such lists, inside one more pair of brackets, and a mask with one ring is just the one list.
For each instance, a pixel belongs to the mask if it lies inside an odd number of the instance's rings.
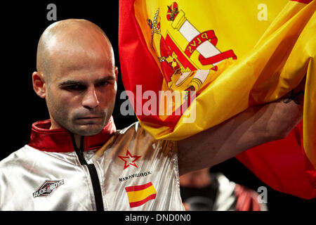
[[127,196],[129,197],[129,206],[138,207],[147,203],[147,201],[156,198],[156,190],[152,182],[138,186],[125,187]]

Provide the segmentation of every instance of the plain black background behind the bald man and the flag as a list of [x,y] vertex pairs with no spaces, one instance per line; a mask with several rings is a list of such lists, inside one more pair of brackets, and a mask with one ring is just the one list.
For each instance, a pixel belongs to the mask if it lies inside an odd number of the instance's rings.
[[[57,6],[57,20],[82,18],[100,26],[112,42],[116,64],[120,68],[117,48],[118,1],[11,1],[2,6],[0,160],[28,143],[33,122],[48,119],[44,99],[39,98],[32,89],[32,72],[36,70],[37,41],[45,28],[54,22],[46,18],[49,11],[46,7],[50,3]],[[124,86],[119,73],[117,102],[113,113],[117,129],[137,120],[135,116],[122,116],[119,112],[119,106],[124,101],[119,99],[121,91],[124,91]],[[315,210],[314,200],[303,200],[272,190],[235,158],[211,170],[223,172],[232,181],[255,191],[259,186],[266,186],[269,210]]]

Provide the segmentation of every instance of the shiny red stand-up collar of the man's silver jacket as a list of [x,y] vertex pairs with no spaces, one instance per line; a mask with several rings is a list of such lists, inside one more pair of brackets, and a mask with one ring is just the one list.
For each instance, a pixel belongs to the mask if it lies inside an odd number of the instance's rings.
[[[55,153],[74,151],[72,137],[67,129],[49,129],[51,120],[34,122],[32,124],[29,146],[38,150]],[[103,131],[93,136],[84,137],[84,150],[100,148],[115,133],[116,127],[111,117]]]

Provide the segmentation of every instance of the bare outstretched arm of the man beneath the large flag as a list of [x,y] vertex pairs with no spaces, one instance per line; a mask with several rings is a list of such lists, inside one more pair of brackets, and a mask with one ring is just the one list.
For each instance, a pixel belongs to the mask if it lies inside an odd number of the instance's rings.
[[285,138],[303,118],[304,84],[305,81],[278,101],[248,108],[215,127],[178,141],[180,175]]

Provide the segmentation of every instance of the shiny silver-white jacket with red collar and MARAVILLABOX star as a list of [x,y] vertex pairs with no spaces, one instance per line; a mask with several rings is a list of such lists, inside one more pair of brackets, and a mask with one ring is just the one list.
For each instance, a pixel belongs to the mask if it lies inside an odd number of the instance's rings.
[[28,145],[0,162],[0,210],[184,210],[176,142],[138,122],[85,136],[34,123]]

